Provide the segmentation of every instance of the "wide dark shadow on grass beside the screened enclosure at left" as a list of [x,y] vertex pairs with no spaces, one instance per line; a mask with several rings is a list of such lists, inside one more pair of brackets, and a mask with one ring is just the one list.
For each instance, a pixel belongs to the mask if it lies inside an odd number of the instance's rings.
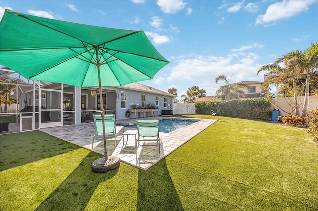
[[0,140],[1,171],[79,148],[38,130],[3,134]]

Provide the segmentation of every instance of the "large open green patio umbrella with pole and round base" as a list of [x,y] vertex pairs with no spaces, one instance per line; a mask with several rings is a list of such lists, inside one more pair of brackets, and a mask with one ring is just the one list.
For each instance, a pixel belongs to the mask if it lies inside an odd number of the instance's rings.
[[[99,86],[100,93],[101,86],[152,79],[169,63],[142,30],[71,23],[6,9],[0,32],[1,65],[30,80]],[[103,109],[101,114],[104,117]],[[107,156],[105,134],[104,146],[105,156],[93,163],[93,169],[101,166],[106,172],[108,165],[119,166],[119,158]]]

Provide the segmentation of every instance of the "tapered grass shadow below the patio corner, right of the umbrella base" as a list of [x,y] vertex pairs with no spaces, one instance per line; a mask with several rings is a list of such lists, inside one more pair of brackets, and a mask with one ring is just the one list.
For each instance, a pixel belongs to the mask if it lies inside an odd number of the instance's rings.
[[147,171],[138,171],[137,211],[183,211],[165,158]]

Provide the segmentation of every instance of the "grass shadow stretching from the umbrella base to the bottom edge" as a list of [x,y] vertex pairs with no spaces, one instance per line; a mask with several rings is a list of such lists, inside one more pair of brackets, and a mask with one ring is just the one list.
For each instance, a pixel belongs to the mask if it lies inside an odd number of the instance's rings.
[[119,169],[102,174],[94,173],[91,164],[97,158],[100,155],[90,152],[35,210],[84,210],[98,185],[115,176]]

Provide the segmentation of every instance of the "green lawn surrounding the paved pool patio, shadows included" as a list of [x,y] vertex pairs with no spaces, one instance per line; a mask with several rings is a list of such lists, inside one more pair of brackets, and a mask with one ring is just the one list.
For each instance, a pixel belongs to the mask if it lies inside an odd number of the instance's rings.
[[306,129],[216,119],[147,171],[93,173],[99,154],[40,131],[3,134],[0,210],[318,210],[318,147]]

